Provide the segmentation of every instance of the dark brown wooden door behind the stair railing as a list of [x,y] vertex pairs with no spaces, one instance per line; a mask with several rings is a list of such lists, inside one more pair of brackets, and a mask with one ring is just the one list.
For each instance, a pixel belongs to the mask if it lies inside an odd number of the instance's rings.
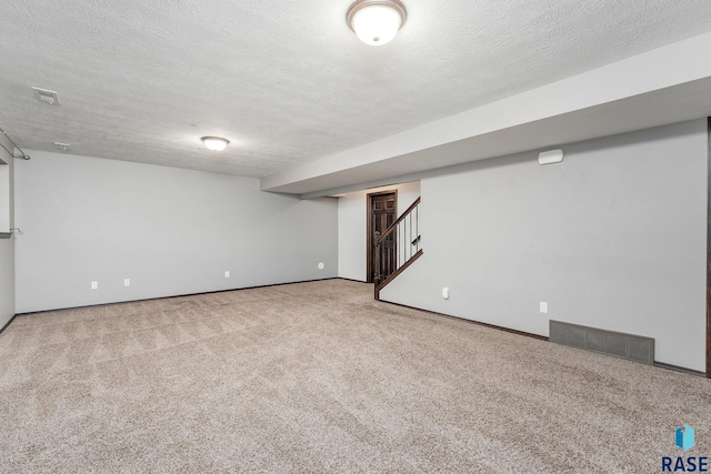
[[375,242],[398,219],[398,194],[395,192],[368,195],[368,282],[387,279],[395,271],[398,255],[394,232],[375,249]]

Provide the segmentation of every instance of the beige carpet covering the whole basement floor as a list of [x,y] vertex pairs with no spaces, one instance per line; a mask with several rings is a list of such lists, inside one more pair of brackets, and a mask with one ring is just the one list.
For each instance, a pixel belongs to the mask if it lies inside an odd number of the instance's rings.
[[0,472],[660,472],[711,381],[342,280],[18,316]]

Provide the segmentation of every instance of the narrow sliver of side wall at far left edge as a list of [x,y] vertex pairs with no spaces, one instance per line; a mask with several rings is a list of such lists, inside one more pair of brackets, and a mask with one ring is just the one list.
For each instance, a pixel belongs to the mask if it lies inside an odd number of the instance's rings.
[[[12,150],[12,143],[8,138],[0,133],[0,142],[8,150]],[[14,215],[14,205],[13,205],[13,169],[14,169],[14,159],[4,151],[4,149],[0,148],[0,159],[8,164],[2,164],[2,167],[10,168],[10,180],[9,183],[2,182],[0,186],[10,185],[10,228],[14,226],[13,215]],[[6,229],[0,230],[1,232],[6,232]],[[0,239],[0,327],[3,327],[8,321],[12,319],[14,315],[14,238],[10,239]]]

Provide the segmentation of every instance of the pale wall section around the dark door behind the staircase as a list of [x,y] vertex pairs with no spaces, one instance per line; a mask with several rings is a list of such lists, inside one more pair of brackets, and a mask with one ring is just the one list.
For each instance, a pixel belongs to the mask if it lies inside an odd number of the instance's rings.
[[420,195],[420,182],[394,184],[342,194],[338,200],[338,274],[365,281],[367,196],[373,192],[398,191],[398,215]]

